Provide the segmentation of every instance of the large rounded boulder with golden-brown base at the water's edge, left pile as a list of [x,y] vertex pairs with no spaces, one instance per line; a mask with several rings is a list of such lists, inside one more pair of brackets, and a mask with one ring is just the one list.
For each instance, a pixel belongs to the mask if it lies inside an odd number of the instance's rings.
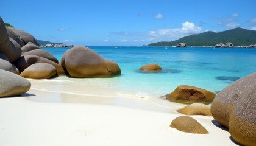
[[84,46],[67,50],[62,56],[61,64],[71,77],[76,78],[113,77],[121,74],[117,63]]

